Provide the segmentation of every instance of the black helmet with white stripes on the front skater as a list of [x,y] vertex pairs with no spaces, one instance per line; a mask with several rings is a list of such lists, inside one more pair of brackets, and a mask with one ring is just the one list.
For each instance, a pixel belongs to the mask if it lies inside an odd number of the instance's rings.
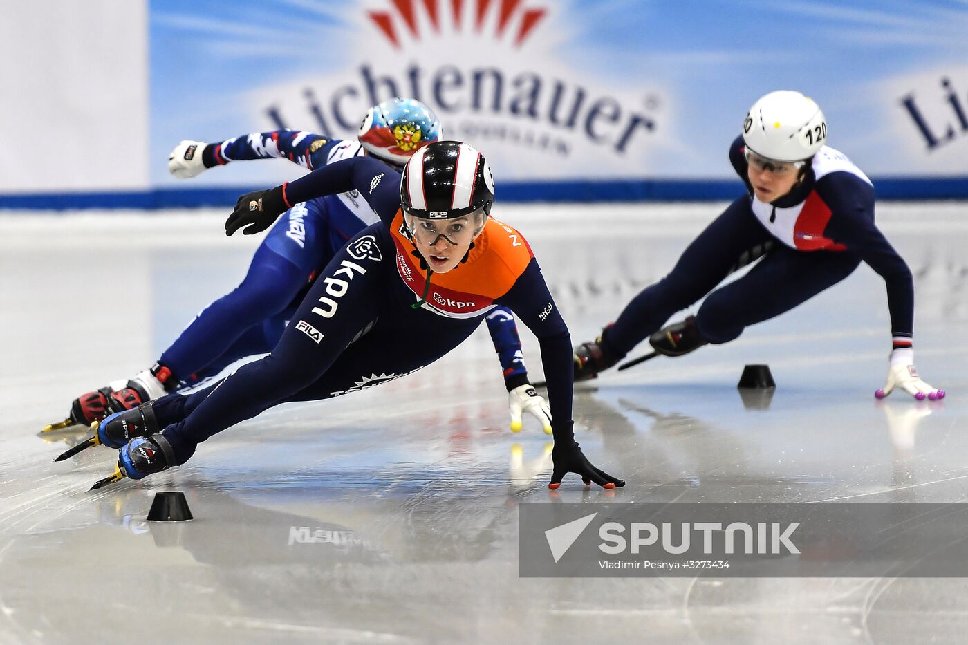
[[494,177],[484,155],[460,141],[435,141],[410,157],[400,182],[404,213],[420,219],[452,219],[494,203]]

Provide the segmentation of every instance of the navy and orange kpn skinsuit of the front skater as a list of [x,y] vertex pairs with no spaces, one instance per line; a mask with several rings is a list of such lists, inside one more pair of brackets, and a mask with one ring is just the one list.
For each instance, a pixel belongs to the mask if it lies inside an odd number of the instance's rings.
[[[187,461],[198,443],[280,403],[337,396],[383,382],[383,375],[403,376],[429,365],[498,305],[537,336],[555,440],[572,441],[570,337],[524,238],[489,219],[468,261],[434,275],[427,301],[413,308],[425,283],[412,268],[415,249],[399,230],[399,186],[397,172],[365,157],[287,184],[289,200],[358,190],[380,222],[355,235],[319,273],[272,353],[194,394],[155,402],[176,464]],[[445,289],[448,280],[481,290]]]

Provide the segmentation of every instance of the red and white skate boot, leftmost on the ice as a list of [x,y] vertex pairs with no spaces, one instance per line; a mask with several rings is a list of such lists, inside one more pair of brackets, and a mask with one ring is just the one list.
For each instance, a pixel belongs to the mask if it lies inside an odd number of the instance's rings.
[[72,425],[91,425],[106,415],[131,410],[142,403],[165,396],[176,385],[171,378],[171,370],[161,363],[155,363],[151,369],[144,370],[130,381],[115,381],[77,397],[71,404],[71,414],[59,423],[45,426],[44,432]]

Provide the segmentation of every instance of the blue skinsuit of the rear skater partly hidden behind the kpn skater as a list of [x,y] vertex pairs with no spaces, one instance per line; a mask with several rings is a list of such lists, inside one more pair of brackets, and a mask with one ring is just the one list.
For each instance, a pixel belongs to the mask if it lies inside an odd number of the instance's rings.
[[[356,141],[276,130],[209,143],[201,155],[206,168],[286,158],[312,170],[363,156],[363,149]],[[352,192],[296,203],[266,234],[242,283],[198,314],[160,362],[175,379],[193,385],[240,358],[269,352],[319,271],[350,237],[376,222],[366,201]],[[496,310],[487,323],[507,388],[527,383],[514,317]]]

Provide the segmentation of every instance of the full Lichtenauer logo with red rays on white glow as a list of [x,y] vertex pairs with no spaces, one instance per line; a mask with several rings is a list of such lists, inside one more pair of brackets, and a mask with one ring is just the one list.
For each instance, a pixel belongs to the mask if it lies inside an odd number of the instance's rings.
[[591,55],[608,44],[580,27],[583,3],[370,0],[344,11],[319,74],[260,97],[273,126],[351,138],[368,107],[414,98],[500,178],[643,174],[667,130],[661,91],[628,77],[615,51]]

